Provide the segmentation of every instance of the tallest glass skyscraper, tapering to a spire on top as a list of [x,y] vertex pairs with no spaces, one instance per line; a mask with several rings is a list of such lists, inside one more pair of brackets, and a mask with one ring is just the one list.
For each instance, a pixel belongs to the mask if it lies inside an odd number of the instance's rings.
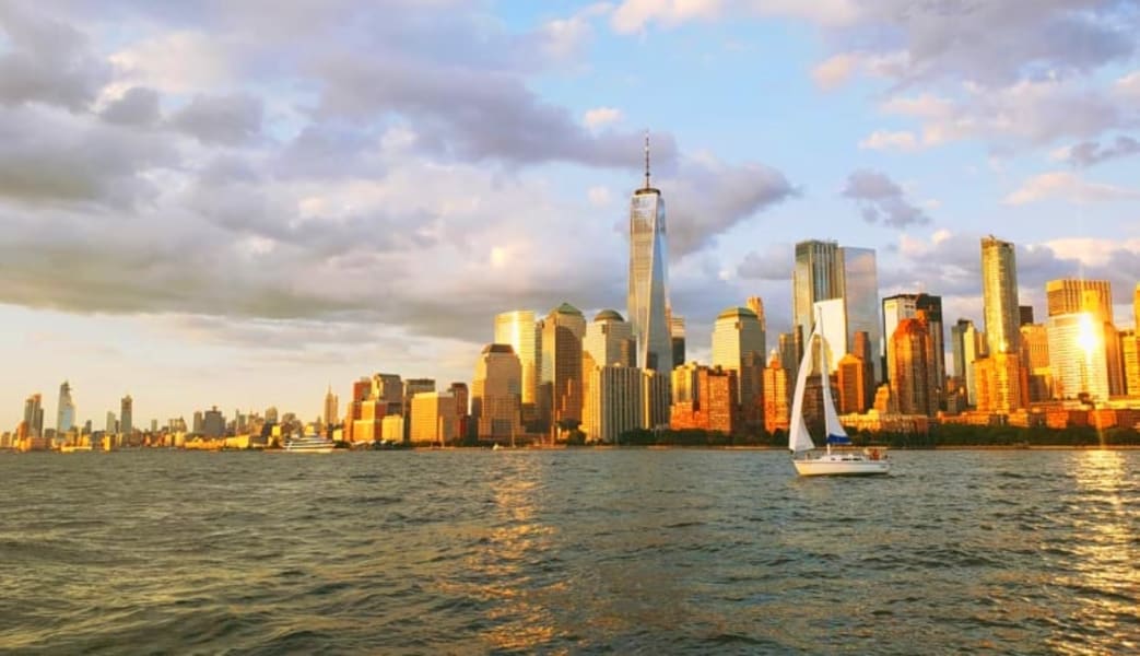
[[650,185],[649,133],[645,135],[645,186],[629,203],[629,292],[627,316],[637,340],[637,366],[669,373],[673,338],[669,325],[669,264],[665,201]]

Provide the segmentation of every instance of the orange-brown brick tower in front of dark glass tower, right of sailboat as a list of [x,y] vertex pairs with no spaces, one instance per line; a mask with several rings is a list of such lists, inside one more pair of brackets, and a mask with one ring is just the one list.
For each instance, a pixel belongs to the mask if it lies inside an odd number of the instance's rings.
[[890,338],[890,394],[902,414],[934,416],[938,410],[934,340],[926,314],[898,322]]

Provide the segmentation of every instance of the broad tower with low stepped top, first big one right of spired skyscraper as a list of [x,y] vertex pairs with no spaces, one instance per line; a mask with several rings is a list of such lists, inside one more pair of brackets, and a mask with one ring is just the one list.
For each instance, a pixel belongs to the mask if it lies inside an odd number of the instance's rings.
[[712,324],[712,366],[736,372],[736,403],[746,422],[764,412],[764,331],[756,313],[727,308]]

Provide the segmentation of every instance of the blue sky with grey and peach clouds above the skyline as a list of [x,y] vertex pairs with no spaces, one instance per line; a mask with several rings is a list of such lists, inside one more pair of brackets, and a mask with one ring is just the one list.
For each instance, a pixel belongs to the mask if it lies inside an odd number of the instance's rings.
[[492,317],[625,314],[643,138],[690,359],[791,315],[792,248],[982,324],[1140,281],[1135,0],[7,0],[0,430],[300,416],[375,372],[470,382]]

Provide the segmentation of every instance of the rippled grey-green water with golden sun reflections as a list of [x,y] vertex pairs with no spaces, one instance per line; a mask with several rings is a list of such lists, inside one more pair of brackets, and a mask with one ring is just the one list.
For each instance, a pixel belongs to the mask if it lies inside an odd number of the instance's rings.
[[1140,651],[1140,452],[0,454],[0,650]]

